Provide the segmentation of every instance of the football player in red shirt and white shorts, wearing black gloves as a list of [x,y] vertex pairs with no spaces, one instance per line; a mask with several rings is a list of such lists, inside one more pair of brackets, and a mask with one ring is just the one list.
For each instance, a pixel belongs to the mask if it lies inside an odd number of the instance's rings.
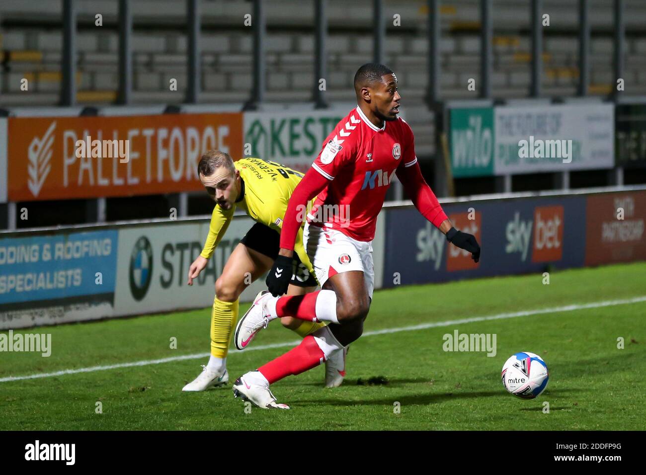
[[[451,226],[422,177],[413,131],[397,116],[401,97],[395,74],[384,65],[368,63],[357,70],[354,85],[357,107],[326,138],[289,198],[280,252],[267,276],[269,291],[258,293],[236,328],[236,339],[251,341],[270,321],[284,315],[329,321],[286,354],[236,380],[235,396],[262,408],[289,408],[276,403],[269,385],[318,366],[335,352],[345,352],[360,337],[374,289],[371,241],[394,174],[419,212],[449,242],[472,253],[475,262],[480,257],[475,237]],[[307,201],[315,196],[306,212]],[[303,244],[321,290],[283,295],[291,277],[284,270],[293,266],[297,231],[305,219]]]

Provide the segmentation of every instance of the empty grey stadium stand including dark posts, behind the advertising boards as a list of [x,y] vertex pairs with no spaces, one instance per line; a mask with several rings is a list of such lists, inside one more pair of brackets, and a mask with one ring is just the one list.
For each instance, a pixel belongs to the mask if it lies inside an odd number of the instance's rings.
[[[587,28],[581,23],[586,5]],[[432,15],[433,8],[438,16]],[[538,28],[541,35],[536,37],[534,10],[550,13],[550,26]],[[244,26],[245,12],[258,22]],[[98,13],[102,26],[96,26]],[[397,26],[396,14],[401,16]],[[33,115],[63,106],[93,115],[112,105],[156,105],[177,112],[189,103],[227,104],[240,111],[253,109],[258,100],[274,105],[351,103],[353,73],[377,59],[399,78],[402,110],[415,132],[426,180],[438,196],[448,196],[435,133],[439,121],[434,111],[442,101],[540,98],[550,103],[582,96],[639,103],[646,94],[645,24],[646,4],[640,0],[4,0],[0,113]],[[321,45],[326,61],[321,63],[317,26],[326,32]],[[255,35],[262,38],[257,45]],[[192,37],[199,37],[198,53],[191,50]],[[534,48],[543,54],[542,61],[534,61]],[[76,76],[66,67],[72,57]],[[256,70],[264,70],[263,81],[255,82]],[[28,92],[20,90],[23,77],[31,79]],[[171,77],[178,79],[177,91],[168,88]],[[315,90],[319,77],[328,81],[320,94]],[[625,79],[625,91],[614,90],[616,77]],[[476,81],[475,91],[467,90],[469,78]],[[643,125],[625,127],[636,131]],[[569,187],[646,183],[645,134],[634,137],[636,143],[627,146],[640,156],[630,168],[572,171]],[[615,149],[618,154],[620,143]],[[562,180],[561,173],[516,174],[509,191],[561,189]],[[501,176],[457,178],[455,195],[505,191],[503,181]],[[393,186],[388,198],[402,197],[398,193]],[[212,206],[199,192],[185,197],[185,208],[177,193],[138,193],[107,198],[100,205],[96,199],[63,198],[17,202],[16,209],[27,207],[30,217],[16,216],[12,223],[12,205],[0,204],[0,228],[163,218],[171,207],[185,209],[187,216],[204,215]]]

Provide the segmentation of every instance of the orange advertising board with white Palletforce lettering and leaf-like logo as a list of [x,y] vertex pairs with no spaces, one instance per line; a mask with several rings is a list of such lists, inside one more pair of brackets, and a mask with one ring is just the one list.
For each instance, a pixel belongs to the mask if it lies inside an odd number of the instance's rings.
[[200,156],[242,156],[242,114],[8,119],[12,201],[202,189]]

